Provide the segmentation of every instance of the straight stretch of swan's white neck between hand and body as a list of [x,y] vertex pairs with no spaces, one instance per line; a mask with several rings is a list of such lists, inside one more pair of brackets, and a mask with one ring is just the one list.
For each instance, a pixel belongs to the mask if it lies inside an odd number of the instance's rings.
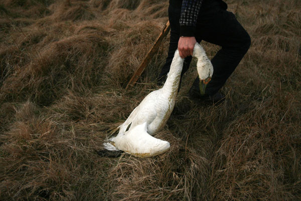
[[180,57],[178,50],[176,50],[170,71],[162,88],[165,94],[169,94],[169,96],[172,97],[177,95],[181,79],[181,72],[183,69],[183,63],[184,59]]

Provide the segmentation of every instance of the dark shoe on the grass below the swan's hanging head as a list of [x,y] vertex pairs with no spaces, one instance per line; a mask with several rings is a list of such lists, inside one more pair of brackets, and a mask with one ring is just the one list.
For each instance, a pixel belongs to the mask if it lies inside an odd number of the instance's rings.
[[193,85],[190,90],[189,90],[189,95],[192,98],[196,98],[198,100],[204,101],[206,103],[210,103],[210,104],[220,104],[222,102],[224,102],[225,100],[225,95],[222,92],[217,92],[213,95],[209,95],[209,94],[201,94],[201,91],[199,89],[199,87],[196,87],[195,85]]

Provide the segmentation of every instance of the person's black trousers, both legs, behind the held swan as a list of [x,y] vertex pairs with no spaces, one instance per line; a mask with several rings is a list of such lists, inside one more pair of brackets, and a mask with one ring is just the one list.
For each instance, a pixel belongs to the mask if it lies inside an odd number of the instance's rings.
[[[179,4],[180,2],[180,4]],[[227,5],[220,0],[210,0],[206,4],[204,0],[197,20],[197,30],[195,37],[198,43],[202,40],[221,46],[214,58],[211,60],[213,65],[213,75],[206,87],[206,94],[215,94],[226,82],[231,73],[235,70],[245,53],[248,51],[251,39],[246,30],[236,20],[233,13],[226,11]],[[159,82],[166,79],[170,66],[178,48],[180,38],[180,0],[170,0],[169,21],[171,25],[171,37],[168,57],[159,75]],[[188,70],[192,57],[186,57],[181,77]],[[193,83],[199,87],[199,78]]]

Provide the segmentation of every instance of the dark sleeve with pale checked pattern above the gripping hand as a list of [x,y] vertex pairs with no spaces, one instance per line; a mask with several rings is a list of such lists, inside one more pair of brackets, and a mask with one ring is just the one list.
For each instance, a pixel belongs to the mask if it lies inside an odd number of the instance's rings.
[[183,0],[180,18],[181,36],[194,36],[202,3],[203,0]]

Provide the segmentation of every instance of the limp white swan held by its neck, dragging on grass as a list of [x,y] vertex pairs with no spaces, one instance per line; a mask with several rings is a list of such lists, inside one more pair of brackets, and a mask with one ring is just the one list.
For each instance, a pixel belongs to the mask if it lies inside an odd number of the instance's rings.
[[[198,58],[197,70],[200,80],[208,81],[213,67],[203,47],[196,43],[193,57]],[[103,143],[110,151],[122,150],[137,157],[150,157],[166,152],[170,143],[151,135],[158,132],[174,110],[184,59],[175,52],[164,86],[149,93],[121,124],[118,135]]]

